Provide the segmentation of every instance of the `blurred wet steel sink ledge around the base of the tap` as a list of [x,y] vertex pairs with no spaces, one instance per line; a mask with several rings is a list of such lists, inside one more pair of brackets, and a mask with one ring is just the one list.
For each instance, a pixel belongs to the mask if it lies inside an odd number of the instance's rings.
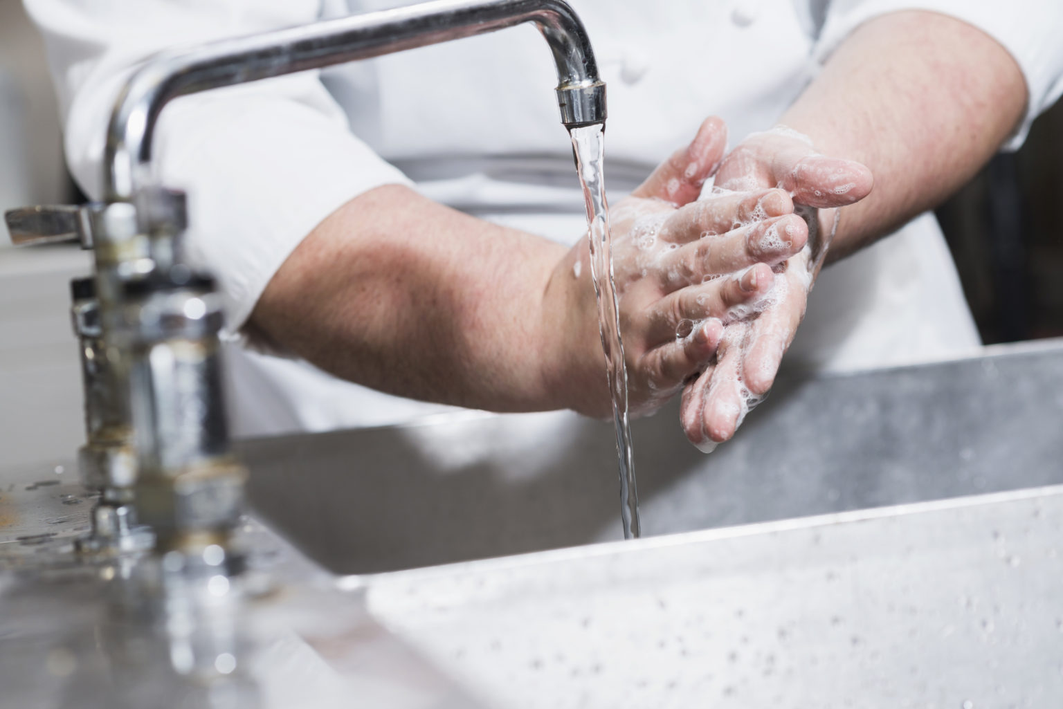
[[[75,555],[92,502],[69,462],[0,466],[0,707],[482,707],[366,612],[362,591],[337,588],[256,521],[238,533],[239,593],[226,584],[203,605],[159,595],[157,561]],[[181,668],[227,632],[230,681]]]

